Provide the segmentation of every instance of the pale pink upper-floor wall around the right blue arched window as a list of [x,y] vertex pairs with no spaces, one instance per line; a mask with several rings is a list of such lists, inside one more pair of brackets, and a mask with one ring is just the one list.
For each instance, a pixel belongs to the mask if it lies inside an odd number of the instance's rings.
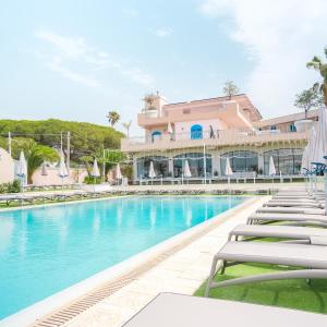
[[219,119],[175,122],[174,123],[175,140],[190,140],[191,126],[195,124],[202,125],[202,130],[204,134],[209,132],[210,125],[213,126],[214,131],[222,130],[222,124]]

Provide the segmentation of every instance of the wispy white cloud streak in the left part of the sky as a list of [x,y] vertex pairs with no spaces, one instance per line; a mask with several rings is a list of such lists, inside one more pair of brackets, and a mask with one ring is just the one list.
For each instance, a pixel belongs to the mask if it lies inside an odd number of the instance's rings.
[[125,66],[110,59],[109,53],[89,46],[83,37],[68,37],[48,31],[38,31],[35,36],[44,41],[44,49],[28,52],[41,59],[48,69],[62,77],[87,87],[100,87],[104,82],[98,73],[116,70],[134,83],[147,86],[154,83],[154,78],[141,69]]

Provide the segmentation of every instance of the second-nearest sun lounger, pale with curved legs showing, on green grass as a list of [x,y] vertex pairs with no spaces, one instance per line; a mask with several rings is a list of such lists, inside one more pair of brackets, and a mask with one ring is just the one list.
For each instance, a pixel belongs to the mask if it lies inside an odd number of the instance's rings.
[[[219,282],[214,281],[216,271],[223,274],[226,267],[240,263],[284,265],[304,267],[304,269],[239,277]],[[206,296],[214,288],[277,279],[327,279],[327,246],[282,242],[229,241],[214,256]]]

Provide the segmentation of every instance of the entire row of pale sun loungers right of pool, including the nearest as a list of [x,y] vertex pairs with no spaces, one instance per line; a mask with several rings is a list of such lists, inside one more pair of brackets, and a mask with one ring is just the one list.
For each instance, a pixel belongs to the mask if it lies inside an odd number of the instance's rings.
[[[278,205],[277,205],[278,203]],[[205,295],[214,288],[279,279],[327,279],[327,216],[325,194],[305,190],[279,192],[237,226],[213,258]],[[310,227],[308,227],[310,226]],[[314,226],[314,227],[312,227]],[[317,228],[320,227],[320,228]],[[276,238],[276,242],[264,242]],[[262,239],[255,242],[255,239]],[[215,281],[216,274],[242,263],[290,267],[272,274]],[[299,268],[300,267],[300,268]],[[218,319],[218,320],[217,320]],[[327,315],[256,304],[161,293],[125,327],[147,326],[327,326]]]

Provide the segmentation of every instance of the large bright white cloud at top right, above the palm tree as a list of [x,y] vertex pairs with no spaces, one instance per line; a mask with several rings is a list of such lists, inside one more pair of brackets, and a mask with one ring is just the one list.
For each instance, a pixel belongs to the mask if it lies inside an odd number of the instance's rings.
[[[232,40],[254,64],[245,90],[270,117],[296,111],[294,95],[318,80],[305,63],[320,55],[326,39],[325,0],[206,0],[202,12],[223,17]],[[232,64],[232,62],[230,63]]]

